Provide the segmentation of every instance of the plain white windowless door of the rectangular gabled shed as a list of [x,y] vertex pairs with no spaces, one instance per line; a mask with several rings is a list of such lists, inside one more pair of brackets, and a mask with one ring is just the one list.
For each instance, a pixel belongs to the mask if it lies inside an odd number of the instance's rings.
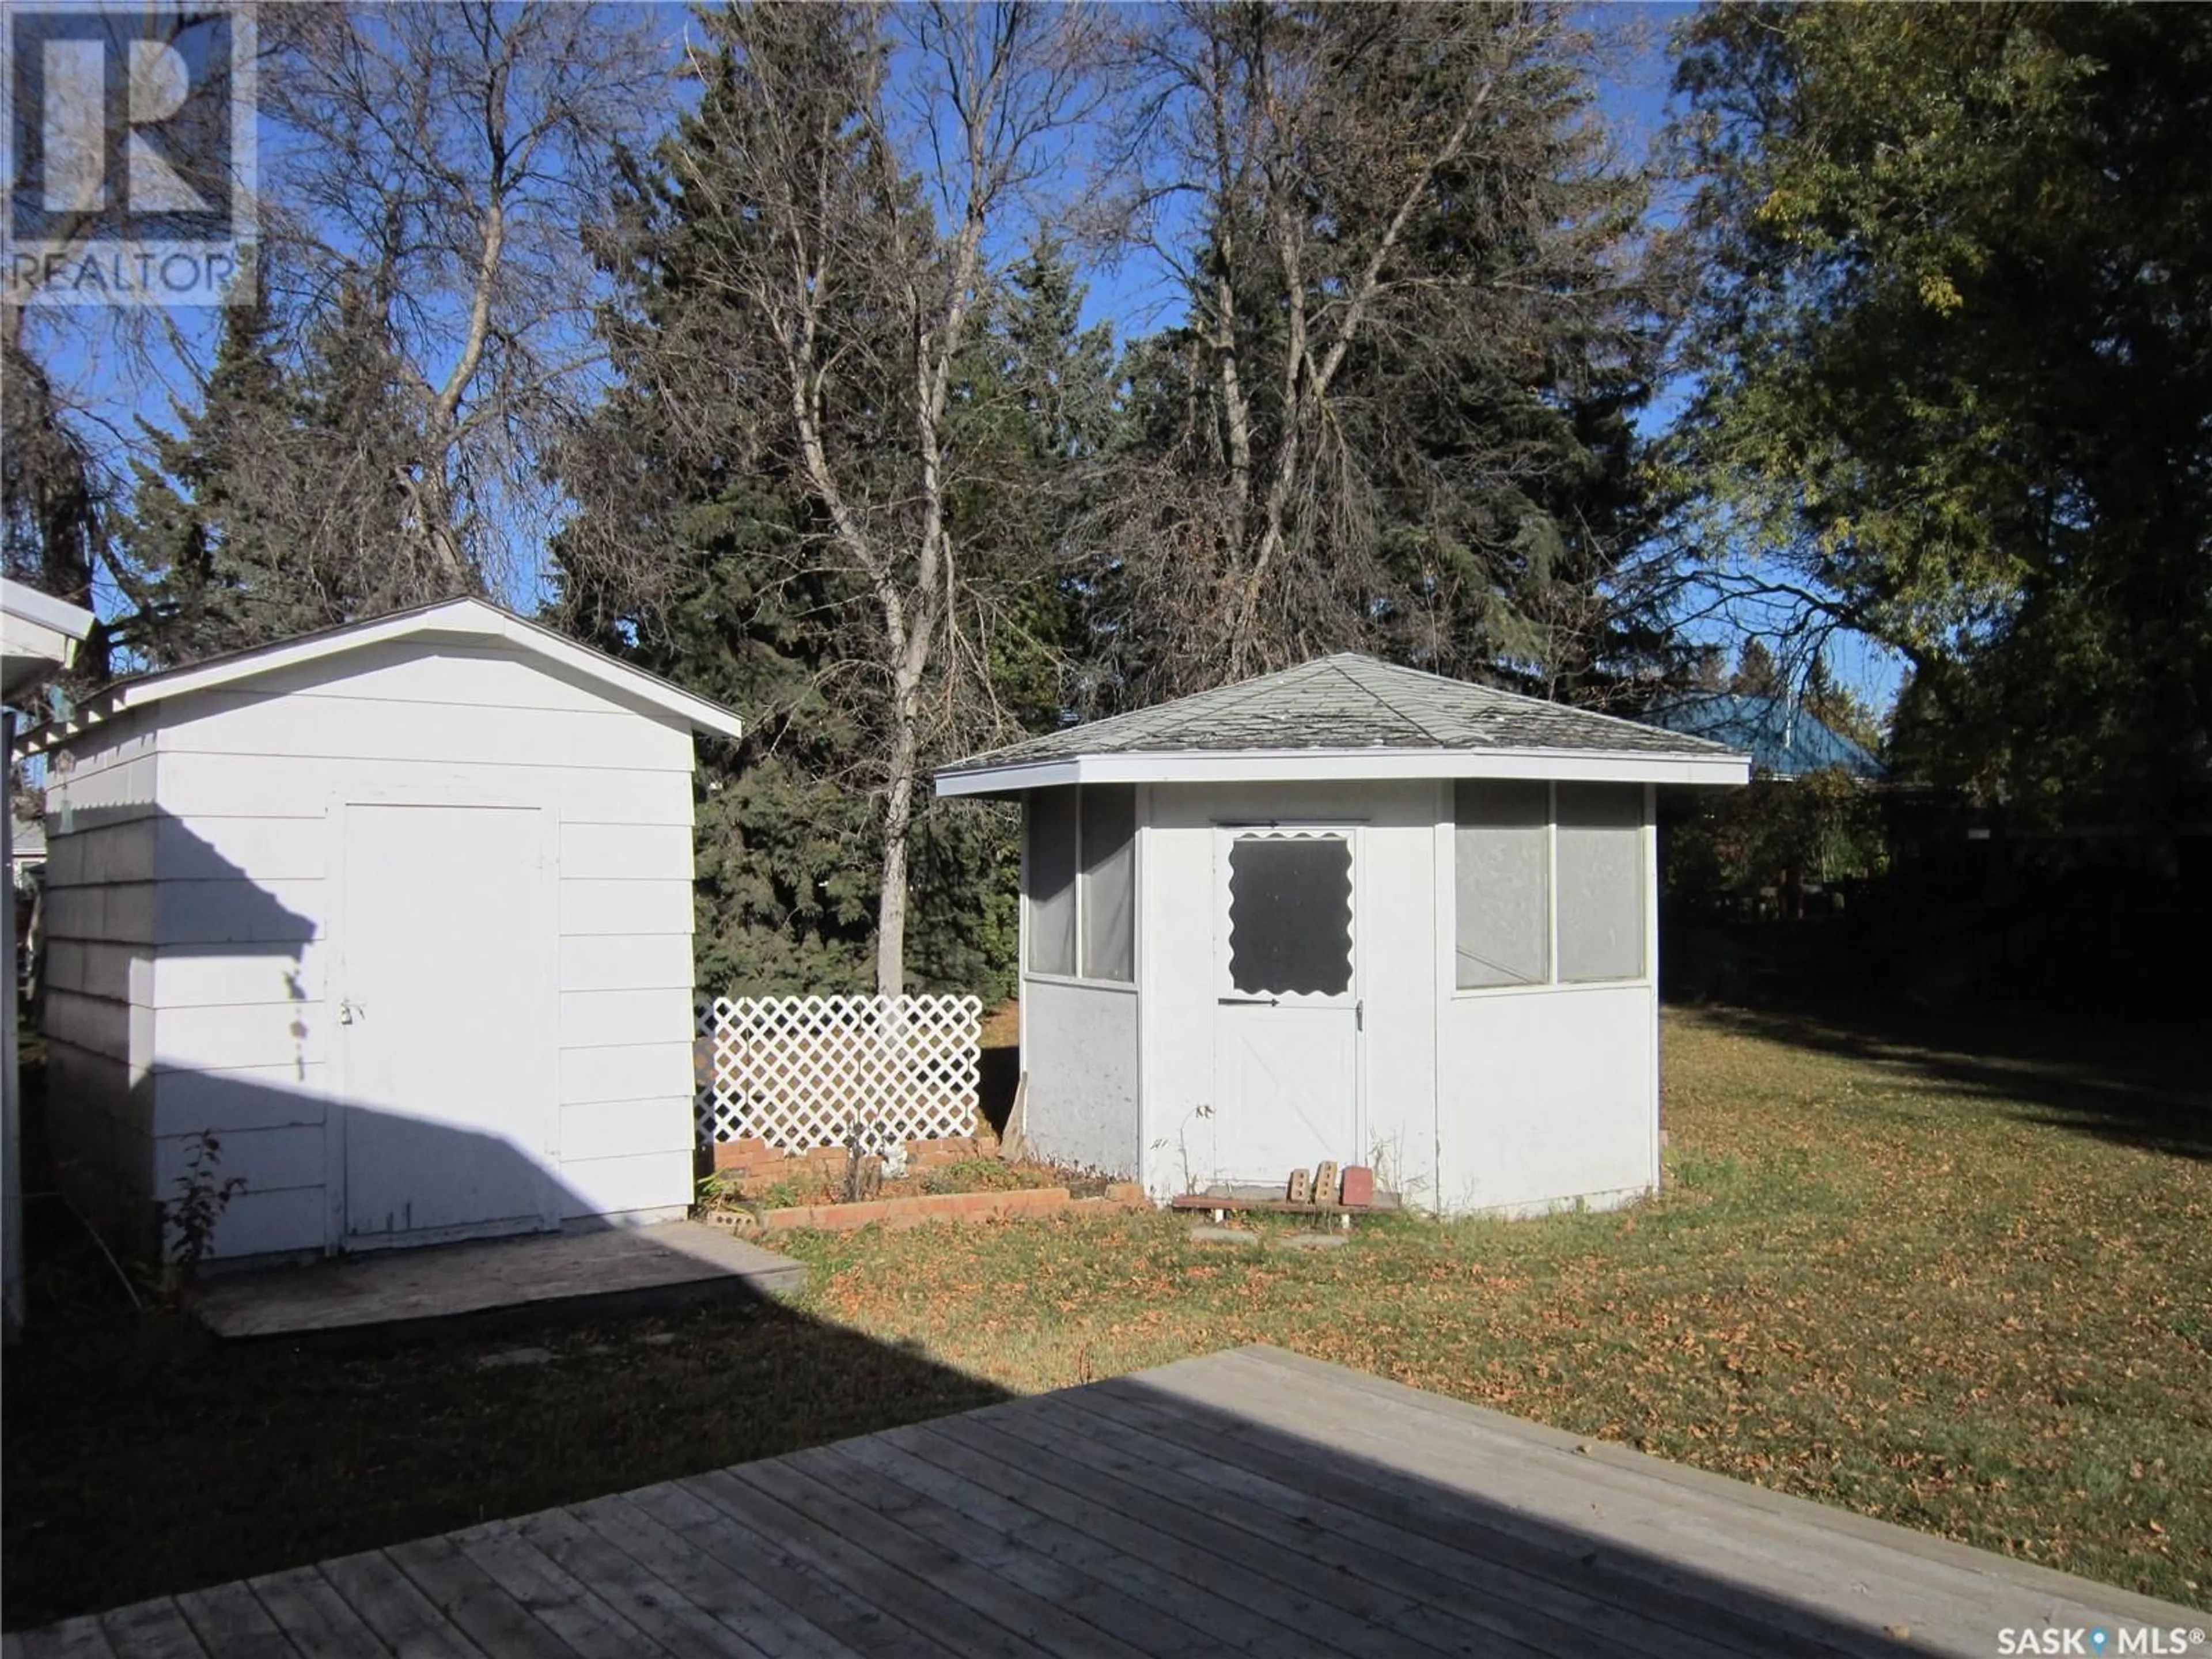
[[560,1225],[535,807],[345,807],[334,1006],[352,1250]]

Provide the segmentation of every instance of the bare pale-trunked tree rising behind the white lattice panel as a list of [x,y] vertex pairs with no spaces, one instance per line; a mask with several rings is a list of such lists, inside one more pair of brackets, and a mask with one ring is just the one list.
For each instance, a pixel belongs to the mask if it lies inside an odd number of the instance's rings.
[[[611,254],[657,265],[644,372],[672,440],[787,487],[805,502],[792,562],[856,595],[865,644],[845,668],[865,679],[821,690],[880,759],[883,995],[905,984],[925,757],[991,703],[956,511],[989,487],[958,436],[962,358],[998,261],[1066,177],[1097,97],[1093,31],[1086,9],[1020,2],[714,13],[692,53],[699,111],[639,208],[684,232],[633,226]],[[653,580],[635,568],[650,549],[571,544],[575,562],[633,566],[633,591]]]

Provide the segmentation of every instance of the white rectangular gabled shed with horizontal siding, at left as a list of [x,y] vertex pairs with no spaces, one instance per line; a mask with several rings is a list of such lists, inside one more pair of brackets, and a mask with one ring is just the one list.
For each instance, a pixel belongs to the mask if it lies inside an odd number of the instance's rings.
[[215,1135],[217,1256],[681,1214],[695,732],[739,721],[478,599],[33,732],[64,1186],[146,1228]]

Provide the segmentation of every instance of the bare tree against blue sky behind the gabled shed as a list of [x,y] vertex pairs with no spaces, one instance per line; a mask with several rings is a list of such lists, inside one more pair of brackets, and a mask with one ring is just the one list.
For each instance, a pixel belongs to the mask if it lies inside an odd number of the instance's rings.
[[[403,445],[361,447],[392,498],[383,602],[535,573],[542,456],[588,398],[595,272],[580,226],[672,84],[655,13],[524,0],[272,7],[263,106],[279,310],[352,334],[363,411]],[[347,515],[305,511],[301,533]],[[387,526],[369,526],[376,535]],[[352,551],[341,553],[352,557]]]

